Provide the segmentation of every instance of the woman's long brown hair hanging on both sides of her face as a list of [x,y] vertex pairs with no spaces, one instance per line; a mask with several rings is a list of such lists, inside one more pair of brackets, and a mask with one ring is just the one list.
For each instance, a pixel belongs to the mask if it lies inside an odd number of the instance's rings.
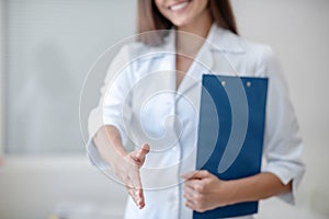
[[[214,21],[223,28],[238,34],[229,0],[209,0],[208,7]],[[138,0],[137,32],[169,30],[173,24],[158,10],[155,0]]]

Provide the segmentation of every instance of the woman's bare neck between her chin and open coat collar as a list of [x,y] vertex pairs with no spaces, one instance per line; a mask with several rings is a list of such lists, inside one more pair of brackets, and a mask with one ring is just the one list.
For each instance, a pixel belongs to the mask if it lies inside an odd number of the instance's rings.
[[177,31],[180,32],[177,33],[177,51],[194,57],[207,37],[212,24],[211,12],[205,10],[195,21],[178,26]]

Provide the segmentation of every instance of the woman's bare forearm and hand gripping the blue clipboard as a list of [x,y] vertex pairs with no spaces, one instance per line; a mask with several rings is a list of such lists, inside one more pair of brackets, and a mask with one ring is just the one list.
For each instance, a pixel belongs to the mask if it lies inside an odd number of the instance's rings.
[[260,200],[292,191],[292,182],[284,185],[272,173],[259,173],[246,178],[222,181],[207,171],[182,175],[186,206],[203,212],[226,205]]

